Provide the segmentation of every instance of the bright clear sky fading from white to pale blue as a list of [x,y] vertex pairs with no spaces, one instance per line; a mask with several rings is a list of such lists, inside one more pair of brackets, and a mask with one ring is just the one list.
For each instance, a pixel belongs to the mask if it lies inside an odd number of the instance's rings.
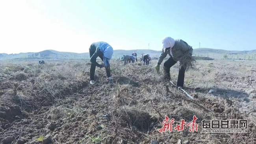
[[161,50],[166,36],[194,49],[200,42],[254,50],[255,7],[255,0],[1,0],[0,53],[84,53],[97,41],[114,50]]

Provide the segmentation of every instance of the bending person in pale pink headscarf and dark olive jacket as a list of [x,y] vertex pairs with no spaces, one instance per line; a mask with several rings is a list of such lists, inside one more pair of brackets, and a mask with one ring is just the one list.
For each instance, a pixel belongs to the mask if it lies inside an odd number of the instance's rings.
[[193,48],[189,46],[187,42],[182,41],[181,39],[174,40],[171,37],[165,37],[162,41],[163,49],[161,54],[158,58],[158,64],[155,66],[156,71],[159,72],[160,65],[163,59],[170,55],[169,59],[165,61],[163,64],[164,68],[164,78],[170,80],[170,68],[177,63],[180,62],[179,74],[178,74],[178,81],[177,87],[183,87],[184,85],[184,77],[185,71],[192,67],[192,62],[195,61],[192,57]]

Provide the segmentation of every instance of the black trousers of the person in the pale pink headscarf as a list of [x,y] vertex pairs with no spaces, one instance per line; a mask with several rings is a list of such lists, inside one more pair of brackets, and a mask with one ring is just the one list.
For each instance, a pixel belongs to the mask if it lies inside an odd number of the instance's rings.
[[[168,79],[170,79],[170,68],[175,65],[177,63],[177,61],[174,61],[173,57],[170,57],[169,59],[167,59],[167,61],[165,61],[165,63],[163,64],[164,67],[164,71],[166,74],[166,77]],[[184,66],[182,66],[179,69],[179,74],[178,74],[178,81],[177,81],[177,86],[178,87],[183,87],[184,85],[184,78],[185,78],[185,71],[186,68]]]

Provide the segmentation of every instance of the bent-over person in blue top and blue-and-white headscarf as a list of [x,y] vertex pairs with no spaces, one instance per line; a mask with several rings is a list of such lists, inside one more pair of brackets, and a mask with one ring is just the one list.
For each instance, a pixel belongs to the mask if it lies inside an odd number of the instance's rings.
[[[95,68],[96,66],[99,68],[106,68],[106,73],[108,79],[111,78],[110,74],[110,63],[109,60],[112,58],[113,55],[113,48],[106,42],[94,42],[91,44],[89,48],[90,53],[90,61],[91,61],[91,69],[90,69],[90,83],[94,84],[94,75],[95,75]],[[100,59],[104,62],[104,65],[100,65],[96,62],[96,58],[100,57]]]

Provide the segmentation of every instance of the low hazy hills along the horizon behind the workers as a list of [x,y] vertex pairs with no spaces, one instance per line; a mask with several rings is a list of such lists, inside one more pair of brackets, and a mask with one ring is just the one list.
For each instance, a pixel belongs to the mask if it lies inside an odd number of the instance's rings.
[[[131,55],[133,52],[137,53],[137,56],[140,57],[141,53],[149,54],[151,57],[159,57],[160,50],[114,50],[113,58],[117,59],[122,55]],[[228,51],[228,50],[219,50],[212,48],[194,48],[194,55],[201,55],[207,57],[216,57],[219,55],[219,58],[223,58],[224,54],[256,54],[256,50],[250,51]],[[209,54],[209,55],[208,55]],[[213,55],[213,56],[211,56]],[[0,54],[0,59],[89,59],[89,53],[74,53],[74,52],[58,52],[56,50],[44,50],[41,52],[28,52],[20,54]]]

